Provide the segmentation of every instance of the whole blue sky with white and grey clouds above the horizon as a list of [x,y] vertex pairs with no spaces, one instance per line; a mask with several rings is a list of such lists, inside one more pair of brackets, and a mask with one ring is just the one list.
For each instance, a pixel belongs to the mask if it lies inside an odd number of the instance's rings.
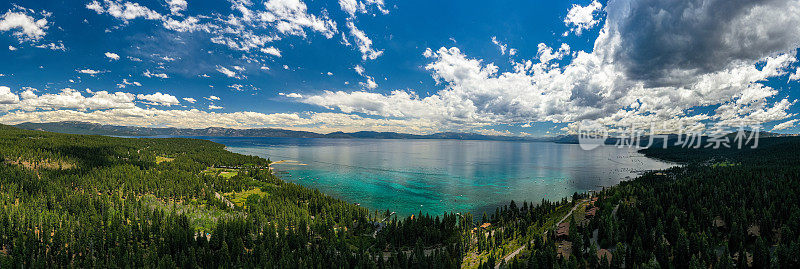
[[12,0],[0,123],[797,133],[797,25],[800,0]]

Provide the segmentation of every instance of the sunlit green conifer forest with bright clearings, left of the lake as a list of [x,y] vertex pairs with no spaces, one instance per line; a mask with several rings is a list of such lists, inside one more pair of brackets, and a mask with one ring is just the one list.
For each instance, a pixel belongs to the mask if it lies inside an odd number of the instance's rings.
[[460,215],[387,218],[268,165],[204,140],[0,126],[0,268],[460,264]]

